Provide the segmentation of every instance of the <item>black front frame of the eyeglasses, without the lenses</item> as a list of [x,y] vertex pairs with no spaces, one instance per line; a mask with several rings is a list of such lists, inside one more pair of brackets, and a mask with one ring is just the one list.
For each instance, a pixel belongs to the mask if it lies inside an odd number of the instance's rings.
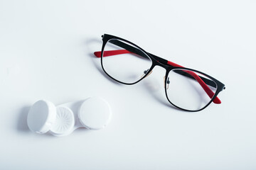
[[[129,83],[125,83],[125,82],[119,81],[119,80],[117,80],[117,79],[114,79],[114,77],[112,77],[110,74],[108,74],[108,73],[105,71],[105,69],[104,69],[104,67],[103,67],[103,62],[102,62],[102,60],[103,60],[103,53],[104,53],[105,45],[107,44],[107,42],[108,42],[109,40],[112,40],[112,39],[122,40],[123,42],[128,42],[129,44],[134,45],[134,47],[137,47],[139,50],[142,50],[142,52],[144,52],[144,53],[146,54],[146,56],[151,59],[152,65],[151,65],[151,67],[149,68],[149,70],[147,70],[146,74],[144,74],[144,77],[142,77],[142,78],[139,79],[138,81],[135,81],[134,83],[130,83],[130,84],[129,84]],[[145,77],[147,77],[147,76],[151,73],[151,71],[154,69],[154,67],[156,67],[156,66],[163,67],[164,69],[166,69],[166,75],[165,75],[165,77],[168,77],[169,72],[171,72],[171,70],[173,70],[173,69],[186,69],[186,70],[188,70],[188,71],[198,72],[198,73],[202,74],[203,76],[206,76],[206,77],[212,79],[212,80],[215,82],[215,84],[217,84],[217,89],[216,89],[216,91],[215,91],[215,94],[214,94],[214,96],[211,98],[211,100],[209,101],[209,103],[206,104],[206,106],[204,106],[204,107],[201,108],[201,109],[198,109],[198,110],[196,110],[196,111],[191,111],[191,110],[187,110],[187,109],[184,109],[184,108],[180,108],[180,107],[176,106],[174,103],[172,103],[172,102],[169,100],[169,97],[168,97],[167,91],[166,91],[167,79],[165,79],[165,80],[164,80],[164,89],[165,89],[165,94],[166,94],[167,100],[169,101],[169,103],[171,103],[171,105],[173,105],[173,106],[175,106],[176,108],[179,108],[179,109],[181,109],[181,110],[183,110],[183,111],[190,111],[190,112],[202,111],[204,108],[206,108],[207,106],[209,106],[210,103],[212,103],[212,102],[214,101],[214,99],[218,96],[218,94],[220,93],[220,91],[223,91],[223,89],[225,89],[225,85],[224,85],[223,83],[221,83],[220,81],[218,81],[217,79],[215,79],[215,78],[213,78],[213,77],[210,77],[208,74],[205,74],[205,73],[203,73],[203,72],[200,72],[200,71],[198,71],[198,70],[196,70],[196,69],[190,69],[190,68],[186,68],[186,67],[174,67],[174,66],[171,66],[170,64],[167,64],[167,63],[168,63],[168,60],[165,60],[165,59],[163,59],[163,58],[161,58],[161,57],[158,57],[158,56],[156,56],[156,55],[152,55],[152,54],[149,53],[149,52],[146,52],[146,51],[143,50],[141,47],[139,47],[138,45],[134,44],[133,42],[130,42],[129,40],[125,40],[125,39],[123,39],[123,38],[119,38],[119,37],[114,36],[114,35],[104,34],[104,35],[102,35],[102,41],[103,41],[103,43],[102,43],[102,50],[101,50],[101,57],[100,57],[100,58],[101,58],[101,66],[102,66],[102,69],[103,69],[103,71],[105,72],[105,74],[107,74],[108,77],[110,77],[111,79],[114,79],[114,81],[117,81],[117,82],[119,82],[119,83],[121,83],[121,84],[126,84],[126,85],[137,84],[139,81],[141,81],[142,79],[144,79]],[[121,42],[121,43],[122,43],[122,42]],[[119,46],[120,46],[120,45],[119,45]],[[138,53],[136,52],[136,49],[135,49],[134,47],[132,47],[132,46],[130,46],[130,45],[127,45],[127,46],[129,46],[129,50],[132,50],[132,52],[138,54]],[[122,46],[120,46],[120,47],[122,47]],[[142,55],[142,54],[138,54],[138,55]]]

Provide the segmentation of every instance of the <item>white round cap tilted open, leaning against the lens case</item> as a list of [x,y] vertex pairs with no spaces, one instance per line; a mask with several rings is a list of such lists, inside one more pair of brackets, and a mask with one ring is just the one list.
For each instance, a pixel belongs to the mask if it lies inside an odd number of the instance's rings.
[[28,112],[28,128],[33,132],[45,133],[55,122],[56,108],[50,101],[37,101]]

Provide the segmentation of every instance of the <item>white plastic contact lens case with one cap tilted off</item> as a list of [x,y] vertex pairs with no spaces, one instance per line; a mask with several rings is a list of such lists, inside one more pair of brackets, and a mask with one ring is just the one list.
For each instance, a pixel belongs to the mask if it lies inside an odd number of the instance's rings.
[[112,111],[109,103],[100,97],[63,103],[55,106],[41,100],[31,106],[28,128],[37,133],[50,132],[55,136],[70,135],[77,128],[100,130],[110,123]]

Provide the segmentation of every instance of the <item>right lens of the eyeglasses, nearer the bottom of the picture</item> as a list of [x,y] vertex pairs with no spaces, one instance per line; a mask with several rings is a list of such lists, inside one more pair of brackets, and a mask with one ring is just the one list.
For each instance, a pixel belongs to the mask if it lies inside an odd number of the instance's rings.
[[173,69],[169,72],[168,78],[167,98],[175,106],[188,111],[204,108],[217,91],[215,81],[188,69]]

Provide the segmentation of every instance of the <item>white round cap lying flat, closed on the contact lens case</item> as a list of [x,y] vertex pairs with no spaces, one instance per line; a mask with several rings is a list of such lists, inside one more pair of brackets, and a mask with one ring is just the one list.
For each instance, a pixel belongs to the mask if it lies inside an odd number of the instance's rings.
[[100,97],[88,98],[80,106],[78,117],[90,130],[100,130],[110,122],[112,111],[109,103]]

